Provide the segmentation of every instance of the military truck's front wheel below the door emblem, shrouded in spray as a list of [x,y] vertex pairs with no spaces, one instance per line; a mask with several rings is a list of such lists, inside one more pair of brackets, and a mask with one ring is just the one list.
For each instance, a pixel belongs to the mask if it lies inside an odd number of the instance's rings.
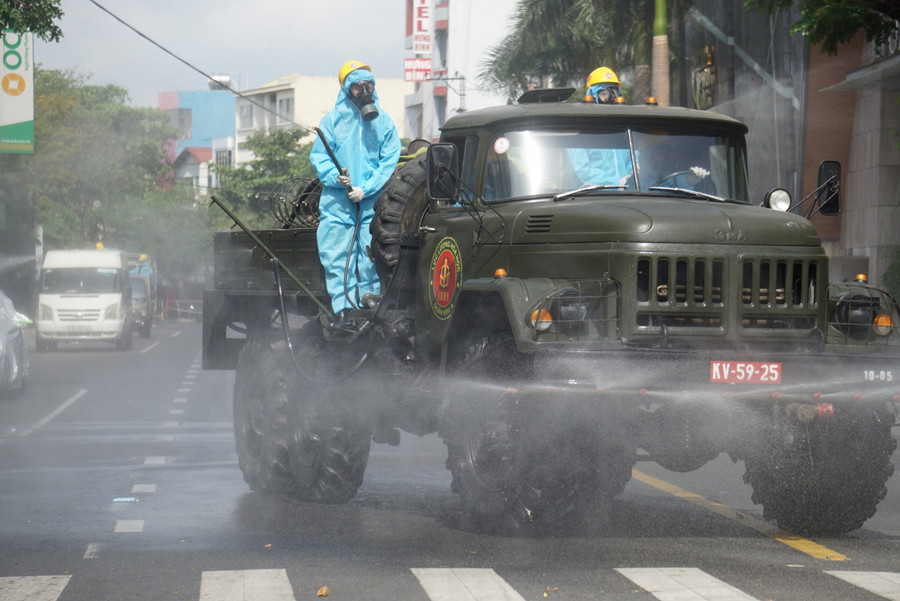
[[502,383],[526,377],[529,359],[512,335],[497,334],[469,347],[460,384],[441,416],[451,489],[464,519],[481,531],[530,535],[574,508],[550,448],[528,434],[516,393]]

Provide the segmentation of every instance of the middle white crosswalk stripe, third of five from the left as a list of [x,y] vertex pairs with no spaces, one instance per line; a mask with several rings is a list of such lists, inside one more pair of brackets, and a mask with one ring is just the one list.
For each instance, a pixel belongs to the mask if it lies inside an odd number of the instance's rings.
[[431,601],[525,601],[491,569],[410,569]]

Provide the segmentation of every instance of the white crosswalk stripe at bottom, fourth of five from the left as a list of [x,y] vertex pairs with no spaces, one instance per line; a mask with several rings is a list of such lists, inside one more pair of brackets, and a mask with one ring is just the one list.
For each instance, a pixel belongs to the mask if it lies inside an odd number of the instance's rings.
[[659,601],[756,601],[699,568],[616,568]]

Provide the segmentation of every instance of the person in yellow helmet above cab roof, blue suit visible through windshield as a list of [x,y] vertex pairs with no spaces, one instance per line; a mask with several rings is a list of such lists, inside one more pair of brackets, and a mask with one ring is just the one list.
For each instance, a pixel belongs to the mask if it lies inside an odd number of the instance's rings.
[[[594,69],[584,86],[584,102],[595,104],[623,104],[625,98],[619,78],[609,67]],[[622,137],[618,148],[573,149],[569,160],[575,174],[584,184],[607,186],[624,185],[632,173],[631,152]]]

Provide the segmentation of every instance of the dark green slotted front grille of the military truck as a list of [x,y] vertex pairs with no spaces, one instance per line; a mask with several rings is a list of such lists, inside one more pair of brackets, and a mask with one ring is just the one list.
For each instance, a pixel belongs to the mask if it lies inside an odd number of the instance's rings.
[[726,315],[737,315],[745,335],[808,331],[815,327],[822,272],[815,259],[643,257],[637,263],[636,325],[724,331]]

